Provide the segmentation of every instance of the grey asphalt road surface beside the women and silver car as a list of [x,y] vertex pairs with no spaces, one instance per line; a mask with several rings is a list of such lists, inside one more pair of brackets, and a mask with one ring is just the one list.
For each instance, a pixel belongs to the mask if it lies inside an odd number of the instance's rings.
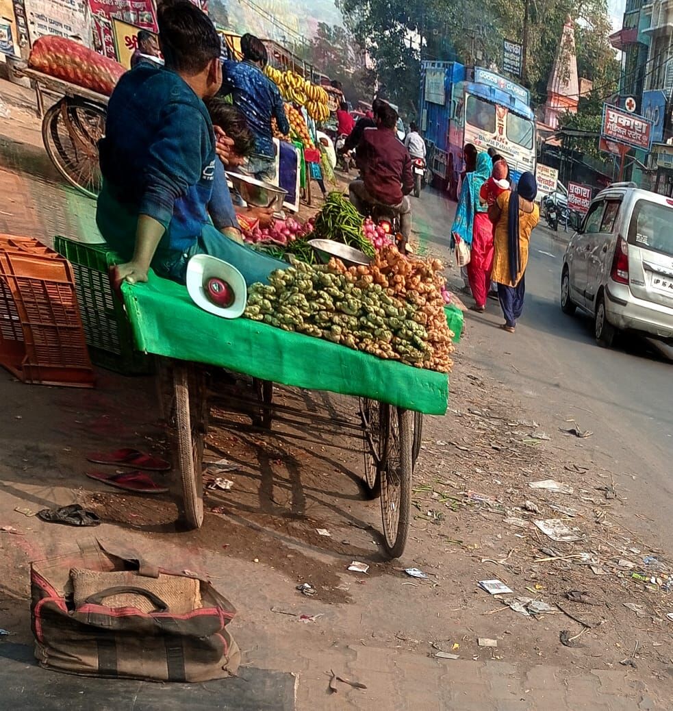
[[[413,201],[414,229],[422,245],[451,262],[448,230],[455,203],[434,191]],[[673,370],[650,344],[623,337],[612,350],[598,348],[593,321],[578,312],[566,316],[559,307],[563,233],[552,237],[546,227],[532,237],[526,272],[524,315],[517,333],[497,329],[502,314],[489,301],[485,314],[468,312],[465,348],[476,363],[510,385],[520,397],[561,424],[576,419],[591,430],[586,440],[588,466],[606,466],[636,476],[630,479],[630,503],[651,519],[661,541],[667,540],[673,516]],[[459,283],[456,269],[453,282]],[[465,296],[465,304],[472,299]],[[591,445],[589,444],[591,443]]]

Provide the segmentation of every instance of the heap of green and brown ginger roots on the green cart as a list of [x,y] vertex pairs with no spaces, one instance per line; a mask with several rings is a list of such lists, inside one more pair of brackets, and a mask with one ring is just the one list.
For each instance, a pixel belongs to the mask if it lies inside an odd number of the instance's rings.
[[448,373],[453,333],[446,324],[438,260],[409,259],[390,245],[369,266],[340,260],[296,262],[249,289],[245,316],[325,338],[387,360]]

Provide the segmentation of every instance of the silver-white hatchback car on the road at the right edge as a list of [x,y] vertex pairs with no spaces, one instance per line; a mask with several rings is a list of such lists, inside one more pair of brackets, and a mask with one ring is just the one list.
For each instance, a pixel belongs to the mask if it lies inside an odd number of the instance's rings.
[[561,309],[595,319],[596,341],[617,331],[673,345],[673,200],[613,183],[598,193],[566,247]]

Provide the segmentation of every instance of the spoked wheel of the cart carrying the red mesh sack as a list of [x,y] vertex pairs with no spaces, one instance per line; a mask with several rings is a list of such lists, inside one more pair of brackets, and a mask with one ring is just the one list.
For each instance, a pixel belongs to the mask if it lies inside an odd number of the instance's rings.
[[58,172],[90,198],[102,186],[98,141],[105,134],[104,107],[64,97],[48,109],[42,121],[42,140]]

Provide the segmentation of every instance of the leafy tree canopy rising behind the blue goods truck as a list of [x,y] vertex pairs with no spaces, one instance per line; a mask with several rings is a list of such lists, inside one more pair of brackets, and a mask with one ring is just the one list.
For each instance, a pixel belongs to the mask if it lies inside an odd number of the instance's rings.
[[[575,19],[581,76],[610,85],[618,76],[608,44],[606,0],[337,0],[346,24],[375,60],[379,81],[402,109],[414,112],[423,59],[502,63],[502,39],[521,41],[528,12],[527,85],[533,103],[544,102],[564,23]],[[608,93],[608,92],[606,92]]]

